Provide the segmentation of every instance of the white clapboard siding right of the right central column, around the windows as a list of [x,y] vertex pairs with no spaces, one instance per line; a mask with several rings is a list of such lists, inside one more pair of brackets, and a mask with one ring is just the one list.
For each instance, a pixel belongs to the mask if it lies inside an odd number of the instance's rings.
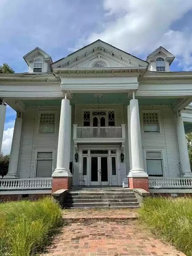
[[[151,109],[151,107],[141,107],[141,110]],[[175,113],[168,106],[154,106],[153,110],[159,110],[160,113],[160,134],[144,134],[142,132],[141,122],[141,137],[144,150],[157,149],[163,152],[164,176],[179,177],[179,153],[177,144],[177,133],[175,124]],[[144,159],[145,163],[145,159]],[[145,168],[145,164],[144,164]]]

